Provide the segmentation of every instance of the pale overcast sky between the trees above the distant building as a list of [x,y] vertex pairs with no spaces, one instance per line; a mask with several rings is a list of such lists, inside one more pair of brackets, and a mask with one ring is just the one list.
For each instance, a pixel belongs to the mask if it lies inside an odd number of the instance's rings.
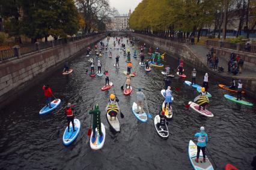
[[109,0],[111,7],[115,7],[120,14],[128,14],[129,10],[134,11],[142,0]]

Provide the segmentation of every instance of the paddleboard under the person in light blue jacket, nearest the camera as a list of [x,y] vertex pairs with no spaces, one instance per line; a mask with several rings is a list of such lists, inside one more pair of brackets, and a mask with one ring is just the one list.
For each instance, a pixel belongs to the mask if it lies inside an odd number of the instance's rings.
[[195,170],[213,170],[212,163],[206,156],[206,162],[203,162],[203,152],[202,150],[200,151],[199,155],[199,162],[195,162],[195,159],[197,159],[197,145],[190,140],[189,141],[189,160],[192,163],[192,166],[194,167]]

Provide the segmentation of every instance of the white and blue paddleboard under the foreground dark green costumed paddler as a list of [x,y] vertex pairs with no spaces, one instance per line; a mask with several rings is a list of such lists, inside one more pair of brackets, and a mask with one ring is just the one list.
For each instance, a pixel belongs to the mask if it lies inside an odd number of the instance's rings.
[[97,128],[96,128],[96,135],[93,138],[93,132],[91,133],[91,138],[90,138],[90,146],[93,150],[99,150],[103,147],[104,142],[106,138],[106,130],[105,126],[102,123],[102,136],[100,136]]

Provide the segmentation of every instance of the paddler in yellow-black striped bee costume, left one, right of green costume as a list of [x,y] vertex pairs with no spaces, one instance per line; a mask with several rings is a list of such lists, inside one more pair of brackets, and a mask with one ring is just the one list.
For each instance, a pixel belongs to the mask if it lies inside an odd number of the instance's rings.
[[114,120],[117,118],[117,113],[120,111],[119,105],[118,105],[119,99],[115,97],[114,94],[109,95],[109,102],[106,106],[106,113],[112,117],[114,117]]

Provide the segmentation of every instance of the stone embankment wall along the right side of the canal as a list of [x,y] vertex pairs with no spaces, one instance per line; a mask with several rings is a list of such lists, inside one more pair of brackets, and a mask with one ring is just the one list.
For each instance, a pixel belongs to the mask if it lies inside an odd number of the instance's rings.
[[[171,54],[171,56],[174,57],[183,57],[184,60],[189,65],[196,66],[196,68],[200,71],[205,71],[210,73],[210,75],[218,77],[219,80],[221,80],[225,84],[230,84],[232,77],[225,76],[222,74],[219,74],[218,72],[212,71],[212,69],[209,69],[209,67],[206,65],[206,63],[201,62],[197,54],[194,53],[189,48],[189,45],[182,44],[179,42],[169,41],[162,38],[156,38],[156,37],[150,37],[148,35],[141,35],[141,34],[135,34],[130,33],[131,36],[139,38],[139,40],[142,40],[146,42],[147,44],[151,44],[154,47],[159,47],[160,50],[165,51],[168,54]],[[251,96],[252,98],[256,98],[256,75],[254,78],[252,77],[240,77],[240,79],[243,81],[243,88],[246,91],[246,95]]]

